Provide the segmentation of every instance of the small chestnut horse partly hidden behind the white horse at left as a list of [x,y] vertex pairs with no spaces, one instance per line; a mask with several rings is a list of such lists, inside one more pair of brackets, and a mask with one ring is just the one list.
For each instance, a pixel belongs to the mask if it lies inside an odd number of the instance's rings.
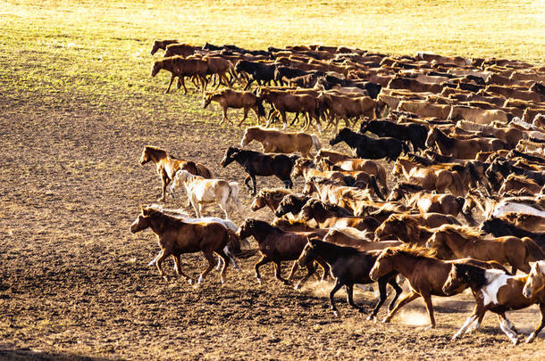
[[189,173],[195,176],[212,178],[212,172],[210,172],[210,170],[204,165],[190,160],[179,160],[172,157],[168,152],[161,148],[146,145],[144,147],[144,152],[142,152],[142,156],[140,157],[139,163],[140,165],[144,165],[150,160],[155,163],[157,174],[161,177],[161,184],[163,185],[163,193],[159,201],[164,201],[166,186],[172,181],[176,175],[176,172],[179,170],[187,170]]

